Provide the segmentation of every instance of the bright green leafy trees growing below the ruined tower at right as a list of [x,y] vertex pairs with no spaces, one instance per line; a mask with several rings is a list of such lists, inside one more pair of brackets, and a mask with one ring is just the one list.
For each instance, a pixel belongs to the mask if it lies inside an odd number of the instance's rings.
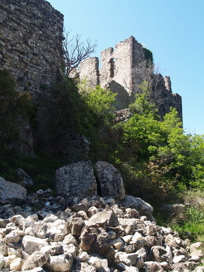
[[162,201],[174,190],[203,189],[203,136],[186,135],[173,108],[160,121],[148,101],[148,85],[144,82],[141,88],[115,154],[127,190],[152,202],[152,195]]

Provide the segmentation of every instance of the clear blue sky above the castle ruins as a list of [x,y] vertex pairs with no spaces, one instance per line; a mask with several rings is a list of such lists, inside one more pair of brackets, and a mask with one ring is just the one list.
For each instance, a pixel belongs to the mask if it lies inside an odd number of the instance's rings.
[[204,134],[204,0],[49,0],[66,29],[97,40],[95,56],[131,35],[151,50],[183,100],[187,133]]

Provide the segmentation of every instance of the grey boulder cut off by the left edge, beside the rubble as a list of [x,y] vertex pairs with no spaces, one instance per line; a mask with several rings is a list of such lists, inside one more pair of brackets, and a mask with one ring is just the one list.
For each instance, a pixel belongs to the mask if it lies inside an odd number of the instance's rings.
[[0,177],[0,204],[14,204],[22,201],[27,195],[27,190],[21,185],[6,181]]

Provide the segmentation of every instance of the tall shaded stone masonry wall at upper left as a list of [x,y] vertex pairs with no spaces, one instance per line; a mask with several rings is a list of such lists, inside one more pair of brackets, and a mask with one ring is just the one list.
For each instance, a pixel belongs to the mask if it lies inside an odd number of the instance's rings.
[[0,0],[0,23],[0,68],[35,100],[63,62],[63,15],[44,0]]

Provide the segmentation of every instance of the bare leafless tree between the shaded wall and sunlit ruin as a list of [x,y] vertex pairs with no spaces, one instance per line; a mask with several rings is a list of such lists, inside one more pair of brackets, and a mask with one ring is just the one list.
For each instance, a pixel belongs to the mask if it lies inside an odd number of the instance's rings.
[[69,76],[73,69],[78,68],[83,60],[90,57],[95,52],[96,46],[96,41],[92,43],[89,38],[83,41],[79,34],[70,37],[70,31],[64,30],[63,49],[66,76]]

